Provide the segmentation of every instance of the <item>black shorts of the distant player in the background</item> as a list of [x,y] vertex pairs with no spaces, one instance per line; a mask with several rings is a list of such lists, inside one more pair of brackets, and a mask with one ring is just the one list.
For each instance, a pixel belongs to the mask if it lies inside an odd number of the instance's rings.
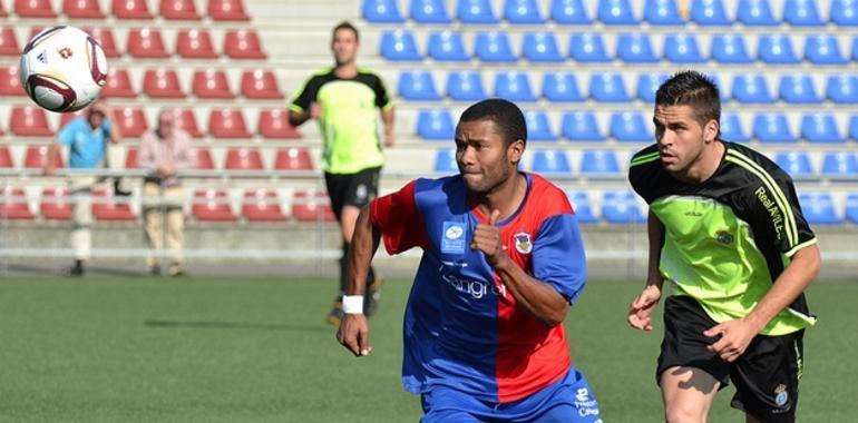
[[343,207],[361,208],[379,195],[380,174],[381,167],[371,167],[357,174],[324,174],[328,196],[331,197],[331,208],[337,220],[340,220]]

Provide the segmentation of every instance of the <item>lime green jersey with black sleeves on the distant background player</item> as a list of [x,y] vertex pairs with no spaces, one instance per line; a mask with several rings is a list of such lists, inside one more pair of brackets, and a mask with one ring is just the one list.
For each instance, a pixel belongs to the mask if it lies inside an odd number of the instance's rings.
[[329,174],[357,174],[384,161],[379,142],[376,108],[393,106],[381,79],[359,68],[351,79],[339,78],[333,68],[313,75],[298,91],[290,110],[322,106],[322,168]]

